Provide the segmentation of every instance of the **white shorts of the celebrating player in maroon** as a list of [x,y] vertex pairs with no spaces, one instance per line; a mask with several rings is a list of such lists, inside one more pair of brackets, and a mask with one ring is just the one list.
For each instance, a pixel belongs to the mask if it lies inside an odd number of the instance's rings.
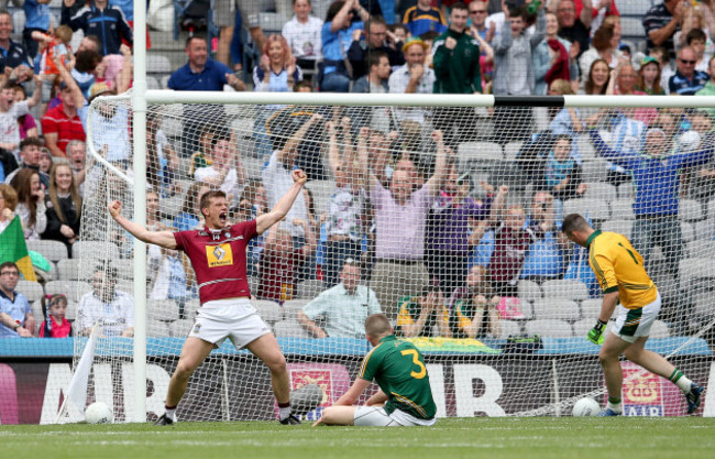
[[271,332],[248,298],[217,299],[205,303],[194,320],[190,338],[199,338],[219,348],[229,338],[237,349]]

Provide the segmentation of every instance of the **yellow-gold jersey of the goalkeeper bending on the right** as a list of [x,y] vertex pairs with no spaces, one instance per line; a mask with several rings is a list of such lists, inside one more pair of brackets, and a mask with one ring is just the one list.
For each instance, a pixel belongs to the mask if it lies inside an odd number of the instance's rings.
[[595,231],[586,242],[588,264],[604,293],[617,291],[620,304],[628,309],[656,300],[658,288],[644,267],[644,258],[625,236]]

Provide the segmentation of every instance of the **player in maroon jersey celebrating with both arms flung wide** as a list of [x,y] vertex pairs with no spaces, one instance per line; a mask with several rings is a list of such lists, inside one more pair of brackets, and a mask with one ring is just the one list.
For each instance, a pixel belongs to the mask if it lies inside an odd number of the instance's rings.
[[293,171],[293,187],[273,210],[254,220],[228,225],[229,203],[220,190],[201,196],[200,209],[206,219],[202,230],[148,231],[121,215],[118,200],[109,206],[112,218],[135,238],[166,249],[183,250],[191,261],[199,285],[201,308],[184,342],[176,371],[166,395],[166,412],[156,422],[176,422],[176,406],[184,396],[188,379],[213,348],[229,338],[238,348],[248,348],[271,370],[273,393],[278,402],[280,424],[300,424],[290,413],[290,387],[286,360],[268,326],[249,302],[245,249],[249,241],[266,231],[287,214],[301,193],[307,176]]

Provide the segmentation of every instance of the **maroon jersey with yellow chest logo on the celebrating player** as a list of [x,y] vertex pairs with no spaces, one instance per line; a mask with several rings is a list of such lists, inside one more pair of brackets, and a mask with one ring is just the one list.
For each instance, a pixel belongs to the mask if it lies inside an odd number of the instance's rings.
[[229,226],[220,231],[178,231],[176,248],[191,261],[201,304],[213,299],[251,296],[246,280],[245,249],[258,236],[255,220]]

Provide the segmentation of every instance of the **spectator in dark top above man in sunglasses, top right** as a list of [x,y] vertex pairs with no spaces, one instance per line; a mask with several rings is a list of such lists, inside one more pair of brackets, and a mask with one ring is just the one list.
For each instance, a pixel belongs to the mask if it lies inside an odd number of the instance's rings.
[[680,30],[689,4],[685,0],[663,0],[646,12],[642,23],[648,52],[654,46],[663,46],[669,55],[675,54],[673,35]]

